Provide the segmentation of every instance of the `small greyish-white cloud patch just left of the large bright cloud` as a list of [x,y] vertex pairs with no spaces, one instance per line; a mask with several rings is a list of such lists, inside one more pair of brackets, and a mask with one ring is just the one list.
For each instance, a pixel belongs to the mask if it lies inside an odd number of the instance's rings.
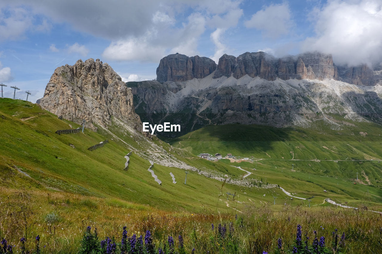
[[269,5],[253,14],[244,25],[261,30],[264,36],[272,39],[288,34],[293,26],[289,5],[286,2]]

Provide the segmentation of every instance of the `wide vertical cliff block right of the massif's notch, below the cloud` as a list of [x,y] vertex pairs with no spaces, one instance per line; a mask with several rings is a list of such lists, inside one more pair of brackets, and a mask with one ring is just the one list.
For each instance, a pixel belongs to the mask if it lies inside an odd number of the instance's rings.
[[276,59],[264,52],[246,52],[237,58],[223,55],[219,59],[214,78],[233,76],[235,79],[248,75],[266,80],[287,79],[338,79],[337,67],[331,55],[306,53],[297,58],[290,56]]

